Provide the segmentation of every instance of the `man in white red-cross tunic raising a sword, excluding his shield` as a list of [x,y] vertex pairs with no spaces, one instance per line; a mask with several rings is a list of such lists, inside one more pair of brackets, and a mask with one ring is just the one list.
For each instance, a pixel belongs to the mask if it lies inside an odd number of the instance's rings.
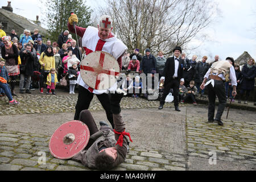
[[[75,14],[71,15],[68,19],[68,29],[82,38],[82,47],[85,54],[88,55],[94,51],[105,51],[110,53],[117,59],[120,70],[122,69],[122,56],[126,52],[127,47],[121,40],[112,33],[113,20],[110,16],[101,16],[98,28],[88,26],[87,28],[75,26],[73,22],[78,22]],[[76,103],[76,113],[74,119],[79,119],[79,114],[82,110],[88,109],[93,95],[96,94],[98,100],[101,102],[102,107],[106,111],[106,116],[114,129],[113,114],[121,113],[120,102],[123,94],[115,92],[108,95],[107,90],[96,90],[86,85],[81,78],[81,74],[77,78],[79,85],[79,96]]]

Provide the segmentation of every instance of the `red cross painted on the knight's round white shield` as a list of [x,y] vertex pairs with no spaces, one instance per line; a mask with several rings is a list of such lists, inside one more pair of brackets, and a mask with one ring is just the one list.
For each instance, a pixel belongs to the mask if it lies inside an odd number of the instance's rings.
[[87,67],[85,65],[81,65],[81,67],[80,67],[83,70],[87,70],[87,71],[91,71],[91,72],[96,72],[97,73],[97,80],[96,80],[96,84],[94,86],[94,89],[96,89],[96,90],[98,90],[98,86],[100,85],[100,82],[101,82],[101,79],[100,79],[100,76],[99,76],[101,73],[105,73],[107,75],[113,75],[113,73],[114,73],[114,76],[117,76],[119,74],[119,72],[113,72],[113,71],[110,71],[108,69],[103,69],[104,58],[105,58],[105,53],[101,52],[100,61],[98,63],[98,67],[97,68]]

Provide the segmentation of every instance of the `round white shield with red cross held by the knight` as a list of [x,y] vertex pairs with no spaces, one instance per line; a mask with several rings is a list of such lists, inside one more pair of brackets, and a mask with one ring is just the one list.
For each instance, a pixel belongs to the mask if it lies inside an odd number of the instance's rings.
[[104,51],[89,53],[80,65],[82,80],[96,90],[111,88],[115,84],[115,76],[120,72],[114,56]]

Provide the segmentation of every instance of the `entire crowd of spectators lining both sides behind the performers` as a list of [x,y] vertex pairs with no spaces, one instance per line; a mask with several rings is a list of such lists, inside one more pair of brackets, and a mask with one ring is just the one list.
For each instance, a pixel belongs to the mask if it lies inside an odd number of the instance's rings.
[[[14,92],[15,82],[19,80],[19,93],[31,93],[31,90],[39,89],[40,93],[55,94],[55,85],[65,79],[68,82],[69,93],[75,93],[76,79],[79,75],[79,64],[82,60],[82,49],[77,46],[76,40],[72,39],[72,35],[68,30],[61,32],[56,42],[44,39],[40,35],[37,28],[33,30],[31,35],[30,30],[24,30],[23,34],[18,36],[15,30],[10,31],[10,35],[1,29],[0,24],[0,47],[1,47],[1,77],[7,80],[6,84],[10,85],[11,96],[16,96]],[[166,57],[164,52],[159,51],[158,55],[154,56],[149,48],[145,49],[144,55],[139,52],[139,49],[134,49],[133,52],[126,52],[122,57],[122,71],[126,72],[127,78],[123,82],[122,92],[129,97],[144,97],[154,94],[157,89],[159,92],[158,99],[161,97],[163,90],[163,83],[160,82],[160,77],[163,75],[164,65],[166,64]],[[192,100],[196,105],[196,97],[206,97],[205,90],[200,89],[203,82],[204,75],[212,65],[218,61],[219,56],[214,57],[212,63],[207,63],[208,57],[203,56],[198,59],[197,55],[193,55],[191,59],[181,53],[180,58],[184,69],[184,82],[180,82],[180,96],[181,103]],[[240,96],[238,103],[241,103],[243,94],[245,93],[246,104],[250,93],[254,90],[255,78],[255,61],[250,59],[247,64],[242,67],[235,64],[238,89],[240,89]],[[142,82],[142,78],[137,76],[130,77],[129,73],[134,72],[151,74],[152,80],[148,86]],[[5,74],[3,74],[5,73]],[[7,74],[6,74],[7,73]],[[155,73],[158,73],[158,85],[155,88]],[[125,83],[125,84],[124,84]],[[152,83],[152,85],[151,85]],[[226,82],[226,97],[234,102],[232,98],[232,87],[230,81]],[[3,85],[2,85],[3,87]],[[10,95],[8,91],[0,88],[0,96]],[[6,93],[8,92],[8,93]],[[170,90],[172,92],[172,90]],[[12,97],[9,98],[13,101]],[[17,103],[16,101],[14,103]]]

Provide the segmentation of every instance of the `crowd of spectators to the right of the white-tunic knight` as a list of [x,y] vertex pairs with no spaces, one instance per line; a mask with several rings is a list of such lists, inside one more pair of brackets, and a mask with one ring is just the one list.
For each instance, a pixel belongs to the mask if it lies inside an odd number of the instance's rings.
[[[163,91],[163,83],[160,82],[160,78],[162,77],[164,65],[166,64],[166,57],[164,57],[163,51],[159,51],[158,55],[155,57],[151,54],[150,49],[146,49],[145,55],[143,56],[139,53],[139,49],[134,49],[133,53],[130,54],[126,52],[125,55],[122,57],[122,70],[129,74],[131,71],[133,73],[145,73],[151,74],[154,77],[155,73],[159,75],[159,84],[158,84],[158,91],[160,97],[162,96],[161,92]],[[130,57],[130,60],[128,60]],[[188,59],[185,53],[181,53],[180,58],[183,62],[183,69],[184,69],[184,81],[180,82],[180,92],[179,92],[179,101],[181,103],[192,101],[193,105],[197,105],[196,97],[206,98],[205,90],[200,88],[201,83],[204,80],[205,73],[207,73],[208,69],[211,65],[219,60],[219,56],[214,56],[214,61],[212,63],[208,63],[208,57],[203,56],[201,59],[198,59],[197,55],[193,55],[191,59]],[[245,65],[234,64],[234,68],[236,70],[237,76],[237,83],[238,89],[240,90],[238,98],[238,103],[241,103],[244,93],[245,94],[245,101],[244,103],[247,104],[249,100],[250,93],[254,90],[254,78],[256,76],[255,72],[255,61],[254,59],[250,59],[247,61]],[[242,66],[242,71],[241,71]],[[135,86],[135,76],[133,78],[127,77],[127,84],[126,88],[123,89],[127,92],[126,96],[131,97],[148,97],[148,90],[152,91],[152,86],[148,87],[148,85],[138,84]],[[138,80],[138,78],[137,78]],[[141,78],[142,81],[142,78]],[[226,86],[226,98],[229,101],[234,102],[234,98],[232,97],[232,86],[230,84],[230,80],[225,82]],[[150,89],[148,89],[148,88]],[[138,90],[138,88],[140,88]],[[135,90],[137,92],[135,93]],[[128,92],[130,90],[130,92]],[[144,90],[144,94],[142,93]],[[172,89],[170,90],[172,92]],[[130,94],[128,94],[130,93]],[[131,94],[132,93],[132,94]]]

